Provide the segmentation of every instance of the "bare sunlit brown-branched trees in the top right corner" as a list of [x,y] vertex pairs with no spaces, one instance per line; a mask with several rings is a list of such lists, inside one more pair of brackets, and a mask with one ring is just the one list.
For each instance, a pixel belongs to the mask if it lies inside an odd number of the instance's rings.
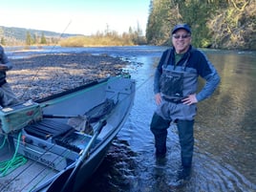
[[256,1],[229,0],[208,22],[213,48],[256,50]]

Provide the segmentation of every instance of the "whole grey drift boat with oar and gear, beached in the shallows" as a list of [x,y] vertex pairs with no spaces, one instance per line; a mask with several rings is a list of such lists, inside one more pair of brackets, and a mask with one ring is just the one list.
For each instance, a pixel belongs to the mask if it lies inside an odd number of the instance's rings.
[[0,110],[0,191],[78,191],[132,108],[135,81],[115,76]]

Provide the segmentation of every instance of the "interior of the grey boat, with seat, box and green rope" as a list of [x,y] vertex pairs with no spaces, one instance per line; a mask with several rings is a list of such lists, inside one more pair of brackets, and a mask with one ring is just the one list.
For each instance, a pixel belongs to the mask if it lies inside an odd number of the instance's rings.
[[102,118],[108,123],[91,148],[107,138],[131,105],[122,100],[134,92],[129,81],[115,83],[1,109],[0,191],[33,191],[52,181],[74,165]]

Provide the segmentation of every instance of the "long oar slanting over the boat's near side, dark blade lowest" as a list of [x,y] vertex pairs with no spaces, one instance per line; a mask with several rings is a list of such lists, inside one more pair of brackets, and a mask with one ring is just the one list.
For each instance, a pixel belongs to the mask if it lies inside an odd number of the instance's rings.
[[92,139],[90,139],[89,143],[87,144],[86,148],[84,149],[84,151],[82,152],[82,155],[80,156],[80,158],[76,161],[75,163],[75,167],[70,167],[68,169],[66,169],[59,177],[57,177],[53,183],[51,184],[51,186],[49,187],[49,189],[47,190],[48,192],[50,191],[59,191],[59,186],[63,185],[64,186],[61,188],[61,192],[70,192],[73,191],[73,184],[74,184],[74,180],[75,180],[75,176],[77,174],[77,172],[79,171],[81,165],[83,164],[84,160],[86,160],[88,158],[88,153],[92,147],[92,145],[94,144],[94,142],[96,141],[97,136],[99,135],[99,133],[101,132],[102,128],[107,124],[106,119],[102,119],[98,122],[98,126],[96,128],[96,132],[94,134],[94,136],[92,137]]

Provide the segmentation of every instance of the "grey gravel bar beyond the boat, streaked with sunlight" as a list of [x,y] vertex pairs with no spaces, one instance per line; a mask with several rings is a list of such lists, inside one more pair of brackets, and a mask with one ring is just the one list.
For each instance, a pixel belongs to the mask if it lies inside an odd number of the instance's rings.
[[7,80],[22,100],[38,99],[112,75],[123,74],[129,62],[89,53],[37,54],[10,59]]

